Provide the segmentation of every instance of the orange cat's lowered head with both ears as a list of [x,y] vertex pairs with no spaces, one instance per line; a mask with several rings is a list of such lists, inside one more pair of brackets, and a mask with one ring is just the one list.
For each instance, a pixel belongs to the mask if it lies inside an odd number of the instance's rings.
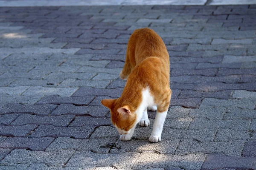
[[101,102],[110,109],[111,121],[119,134],[129,133],[136,126],[137,115],[129,105],[122,105],[117,99],[103,99]]

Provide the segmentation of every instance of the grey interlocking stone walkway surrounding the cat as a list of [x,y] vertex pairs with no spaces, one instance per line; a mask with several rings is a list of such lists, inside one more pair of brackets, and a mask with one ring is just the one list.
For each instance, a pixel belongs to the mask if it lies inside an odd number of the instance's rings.
[[[134,29],[171,62],[162,142],[121,142],[118,97]],[[256,6],[0,8],[1,170],[256,169]]]

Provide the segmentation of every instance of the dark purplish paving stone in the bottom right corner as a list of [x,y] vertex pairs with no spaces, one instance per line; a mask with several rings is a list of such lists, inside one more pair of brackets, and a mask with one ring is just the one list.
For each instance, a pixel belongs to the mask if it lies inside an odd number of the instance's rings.
[[207,156],[202,168],[203,170],[218,168],[255,169],[255,164],[255,158],[210,154]]

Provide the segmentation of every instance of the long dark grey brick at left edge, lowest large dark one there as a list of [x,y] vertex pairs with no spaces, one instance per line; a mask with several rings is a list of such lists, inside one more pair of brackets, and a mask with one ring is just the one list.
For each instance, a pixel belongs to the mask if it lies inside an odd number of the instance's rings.
[[20,138],[20,137],[0,137],[2,148],[9,149],[29,149],[45,150],[54,138]]

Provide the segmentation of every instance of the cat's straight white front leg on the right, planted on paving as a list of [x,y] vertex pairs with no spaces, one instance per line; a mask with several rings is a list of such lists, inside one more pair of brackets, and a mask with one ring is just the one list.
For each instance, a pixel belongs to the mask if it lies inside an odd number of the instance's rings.
[[163,124],[166,119],[167,111],[164,111],[164,112],[157,111],[157,115],[153,125],[153,131],[151,132],[151,136],[148,139],[150,142],[161,141],[161,134],[163,131]]

